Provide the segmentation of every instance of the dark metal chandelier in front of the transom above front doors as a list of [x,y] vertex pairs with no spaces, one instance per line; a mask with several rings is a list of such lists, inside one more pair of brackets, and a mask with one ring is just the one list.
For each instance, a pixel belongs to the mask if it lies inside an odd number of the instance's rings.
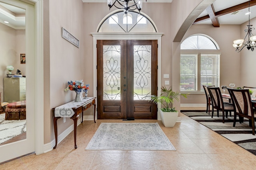
[[[128,4],[129,2],[132,2],[133,4],[130,5]],[[115,6],[118,9],[124,9],[125,14],[127,14],[129,10],[138,10],[140,12],[142,8],[142,0],[115,0],[114,3],[113,0],[107,0],[107,4],[109,6],[109,10],[112,6]]]

